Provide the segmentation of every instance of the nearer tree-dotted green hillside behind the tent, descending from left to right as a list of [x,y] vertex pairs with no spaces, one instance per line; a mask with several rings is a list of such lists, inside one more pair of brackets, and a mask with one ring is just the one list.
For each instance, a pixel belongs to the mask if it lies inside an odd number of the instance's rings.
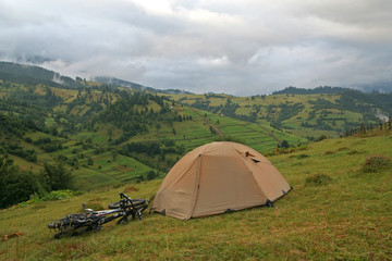
[[[306,139],[189,108],[168,97],[81,82],[66,89],[0,80],[0,149],[14,165],[39,172],[63,161],[72,188],[89,190],[166,173],[184,153],[225,136],[259,151]],[[135,149],[136,148],[136,149]]]

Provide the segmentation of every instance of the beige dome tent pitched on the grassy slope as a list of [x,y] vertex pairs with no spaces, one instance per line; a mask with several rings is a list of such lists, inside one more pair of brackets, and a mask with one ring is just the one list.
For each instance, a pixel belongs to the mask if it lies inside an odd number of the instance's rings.
[[211,142],[184,156],[163,179],[152,203],[173,217],[272,204],[291,186],[264,156],[235,142]]

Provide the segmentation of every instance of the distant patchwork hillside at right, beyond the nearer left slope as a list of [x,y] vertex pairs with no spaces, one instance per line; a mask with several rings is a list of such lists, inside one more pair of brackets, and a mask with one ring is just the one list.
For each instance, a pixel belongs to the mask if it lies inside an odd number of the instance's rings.
[[335,94],[171,97],[186,105],[254,123],[268,123],[274,128],[310,139],[321,135],[339,137],[345,129],[362,123],[378,123],[377,115],[380,113],[392,113],[390,94],[364,94],[348,89],[340,89]]

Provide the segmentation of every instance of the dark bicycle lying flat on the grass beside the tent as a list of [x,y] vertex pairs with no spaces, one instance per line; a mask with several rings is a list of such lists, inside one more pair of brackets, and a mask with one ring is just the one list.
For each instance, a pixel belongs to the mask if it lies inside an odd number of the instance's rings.
[[109,210],[88,211],[85,213],[69,214],[64,219],[57,220],[48,224],[50,229],[59,232],[54,235],[54,238],[60,238],[62,235],[71,234],[71,236],[77,236],[83,233],[94,231],[99,232],[102,225],[121,217],[117,224],[125,224],[128,222],[128,216],[135,219],[137,215],[142,220],[142,212],[148,208],[148,201],[146,199],[131,199],[125,194],[120,194],[120,201],[109,204]]

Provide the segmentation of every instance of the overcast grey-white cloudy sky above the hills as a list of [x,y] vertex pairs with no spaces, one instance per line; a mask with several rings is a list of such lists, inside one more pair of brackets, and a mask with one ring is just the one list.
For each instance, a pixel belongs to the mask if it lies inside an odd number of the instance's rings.
[[0,0],[0,60],[196,94],[392,83],[391,0]]

